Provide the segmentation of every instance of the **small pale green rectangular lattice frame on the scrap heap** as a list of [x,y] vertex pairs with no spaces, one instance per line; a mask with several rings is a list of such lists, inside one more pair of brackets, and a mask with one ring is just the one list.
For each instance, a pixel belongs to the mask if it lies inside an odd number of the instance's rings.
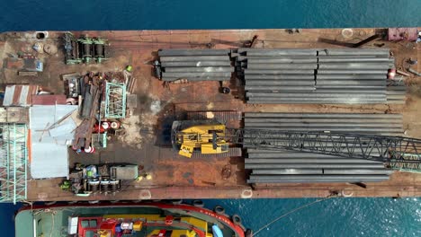
[[124,83],[106,83],[105,118],[126,117],[126,85]]

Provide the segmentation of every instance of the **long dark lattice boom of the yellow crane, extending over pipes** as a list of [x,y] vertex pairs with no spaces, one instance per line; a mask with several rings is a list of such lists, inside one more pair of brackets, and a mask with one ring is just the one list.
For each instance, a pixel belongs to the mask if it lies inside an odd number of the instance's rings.
[[421,139],[330,132],[237,130],[244,147],[330,154],[384,162],[401,171],[421,171]]

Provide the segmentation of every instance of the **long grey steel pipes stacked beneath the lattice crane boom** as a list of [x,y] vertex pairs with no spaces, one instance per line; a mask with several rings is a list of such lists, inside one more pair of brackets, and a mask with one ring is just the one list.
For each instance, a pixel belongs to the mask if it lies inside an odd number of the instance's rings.
[[[388,180],[392,172],[383,162],[327,154],[251,147],[247,137],[254,129],[283,131],[336,131],[343,133],[401,136],[399,114],[246,113],[246,169],[248,183],[373,182]],[[248,131],[248,132],[247,132]]]

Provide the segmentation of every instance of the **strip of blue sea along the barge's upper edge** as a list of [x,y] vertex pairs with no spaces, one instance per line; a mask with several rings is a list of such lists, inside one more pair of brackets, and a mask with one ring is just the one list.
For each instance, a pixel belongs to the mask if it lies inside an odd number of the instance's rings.
[[420,26],[420,0],[2,0],[0,31]]

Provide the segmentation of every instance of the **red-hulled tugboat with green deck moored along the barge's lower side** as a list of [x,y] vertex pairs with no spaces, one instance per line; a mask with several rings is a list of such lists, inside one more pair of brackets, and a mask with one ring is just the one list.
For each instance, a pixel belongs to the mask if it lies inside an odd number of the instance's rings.
[[202,201],[73,203],[24,206],[15,215],[16,237],[252,237],[238,215]]

